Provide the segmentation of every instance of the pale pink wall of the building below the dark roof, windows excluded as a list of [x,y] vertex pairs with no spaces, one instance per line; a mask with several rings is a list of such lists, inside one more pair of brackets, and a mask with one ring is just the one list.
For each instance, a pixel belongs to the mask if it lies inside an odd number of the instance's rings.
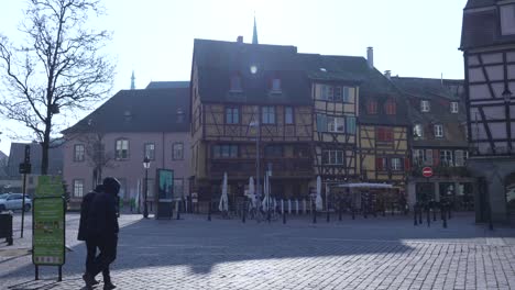
[[[113,156],[116,141],[127,138],[129,141],[129,157],[124,160],[112,160],[110,165],[103,169],[102,177],[112,176],[125,185],[124,192],[120,192],[120,197],[124,200],[134,198],[141,191],[142,180],[144,179],[145,170],[143,168],[144,144],[155,144],[155,160],[151,161],[149,170],[149,179],[155,182],[156,169],[173,169],[174,178],[182,179],[184,185],[184,196],[189,194],[188,178],[190,176],[190,135],[189,132],[184,133],[109,133],[103,136],[105,150],[107,155]],[[183,143],[183,159],[174,160],[173,144]],[[72,199],[80,199],[75,197],[74,180],[84,180],[84,194],[94,188],[92,166],[91,161],[74,161],[74,147],[76,144],[84,144],[79,137],[73,138],[64,145],[64,180],[68,186],[68,191]],[[123,185],[122,185],[123,186]],[[123,190],[123,189],[122,189]],[[149,188],[149,193],[154,192]],[[153,194],[150,194],[150,197]]]

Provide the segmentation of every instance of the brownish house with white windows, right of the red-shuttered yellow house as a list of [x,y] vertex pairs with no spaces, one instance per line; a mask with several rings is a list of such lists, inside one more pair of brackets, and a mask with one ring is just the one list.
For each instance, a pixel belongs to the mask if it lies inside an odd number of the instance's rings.
[[[392,77],[408,102],[412,166],[408,201],[446,201],[453,210],[473,210],[474,179],[469,156],[463,80]],[[432,176],[423,176],[430,167]]]

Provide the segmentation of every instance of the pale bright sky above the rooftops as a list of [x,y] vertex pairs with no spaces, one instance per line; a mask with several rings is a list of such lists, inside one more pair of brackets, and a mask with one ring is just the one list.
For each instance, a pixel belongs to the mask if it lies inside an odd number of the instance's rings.
[[[25,1],[0,0],[0,33],[17,27]],[[401,77],[463,78],[458,51],[467,0],[109,0],[94,25],[113,32],[108,49],[117,64],[112,94],[151,80],[188,80],[194,38],[252,40],[255,12],[262,44],[297,46],[299,53],[365,56],[374,47],[380,71]],[[92,110],[94,108],[91,108]],[[88,111],[89,112],[89,111]],[[81,112],[78,118],[88,112]],[[67,120],[74,124],[77,120]],[[24,130],[0,121],[0,131]],[[9,132],[6,132],[9,134]],[[0,135],[0,150],[11,140]]]

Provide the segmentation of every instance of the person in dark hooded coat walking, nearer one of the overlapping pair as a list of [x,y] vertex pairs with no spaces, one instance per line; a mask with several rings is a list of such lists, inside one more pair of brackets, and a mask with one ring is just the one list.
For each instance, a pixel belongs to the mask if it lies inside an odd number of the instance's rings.
[[87,234],[100,249],[100,254],[91,263],[89,269],[83,276],[86,287],[91,289],[95,285],[95,276],[103,272],[103,289],[114,289],[109,275],[109,265],[117,258],[118,244],[118,217],[117,196],[120,191],[120,182],[112,177],[103,179],[103,191],[95,194],[87,215]]

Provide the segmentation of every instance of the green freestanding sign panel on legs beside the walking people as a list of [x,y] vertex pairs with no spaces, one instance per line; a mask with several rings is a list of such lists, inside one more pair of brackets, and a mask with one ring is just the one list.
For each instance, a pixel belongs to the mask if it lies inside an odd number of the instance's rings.
[[32,215],[32,263],[36,280],[40,279],[40,266],[57,266],[58,281],[63,280],[66,259],[63,196],[61,177],[39,177]]

